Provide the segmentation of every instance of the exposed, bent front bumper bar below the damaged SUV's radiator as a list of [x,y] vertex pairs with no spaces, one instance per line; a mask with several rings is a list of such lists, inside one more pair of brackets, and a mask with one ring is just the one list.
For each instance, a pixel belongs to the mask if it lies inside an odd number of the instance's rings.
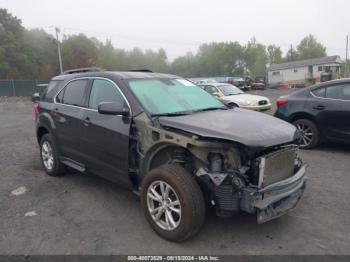
[[244,188],[240,207],[243,211],[257,214],[257,222],[265,223],[284,215],[299,202],[305,189],[306,165],[288,179],[261,189]]

